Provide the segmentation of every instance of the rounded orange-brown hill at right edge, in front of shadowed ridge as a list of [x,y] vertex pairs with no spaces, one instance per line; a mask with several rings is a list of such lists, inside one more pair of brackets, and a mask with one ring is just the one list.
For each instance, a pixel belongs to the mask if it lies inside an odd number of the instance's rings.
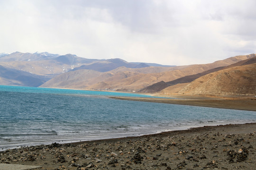
[[179,93],[183,94],[256,94],[256,63],[231,67],[202,76]]

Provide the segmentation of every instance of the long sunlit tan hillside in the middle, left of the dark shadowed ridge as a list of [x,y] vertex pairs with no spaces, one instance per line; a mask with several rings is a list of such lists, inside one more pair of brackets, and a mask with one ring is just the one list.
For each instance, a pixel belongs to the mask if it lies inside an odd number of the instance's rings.
[[[114,70],[100,73],[88,78],[87,71],[79,72],[74,80],[72,72],[66,72],[46,82],[43,87],[94,89],[94,90],[119,90],[138,91],[148,85],[161,81],[173,81],[184,76],[194,75],[216,67],[223,67],[251,58],[254,54],[247,56],[236,56],[229,59],[216,61],[210,64],[177,66],[169,68],[147,67],[147,68],[116,68]],[[82,70],[82,69],[81,69]],[[85,74],[85,75],[83,75]],[[64,76],[65,78],[61,78]]]

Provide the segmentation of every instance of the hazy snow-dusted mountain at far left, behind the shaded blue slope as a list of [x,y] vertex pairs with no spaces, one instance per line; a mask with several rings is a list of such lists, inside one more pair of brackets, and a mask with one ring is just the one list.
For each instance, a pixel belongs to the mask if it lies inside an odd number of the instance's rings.
[[6,68],[18,69],[40,76],[56,76],[72,70],[82,64],[91,64],[98,59],[85,59],[76,55],[14,52],[0,58],[0,64]]

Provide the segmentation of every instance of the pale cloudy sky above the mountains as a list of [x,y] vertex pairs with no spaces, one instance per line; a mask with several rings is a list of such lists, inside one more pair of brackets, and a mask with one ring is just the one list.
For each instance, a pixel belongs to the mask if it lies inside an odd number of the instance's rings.
[[163,65],[256,53],[256,0],[0,0],[0,52]]

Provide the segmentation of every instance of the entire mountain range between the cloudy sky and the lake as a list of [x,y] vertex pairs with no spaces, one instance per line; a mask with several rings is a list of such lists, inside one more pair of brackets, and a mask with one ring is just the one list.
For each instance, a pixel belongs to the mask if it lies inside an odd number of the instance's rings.
[[123,59],[85,59],[73,54],[48,52],[0,53],[0,85],[165,95],[255,94],[255,63],[255,54],[209,64],[163,66],[130,63]]

